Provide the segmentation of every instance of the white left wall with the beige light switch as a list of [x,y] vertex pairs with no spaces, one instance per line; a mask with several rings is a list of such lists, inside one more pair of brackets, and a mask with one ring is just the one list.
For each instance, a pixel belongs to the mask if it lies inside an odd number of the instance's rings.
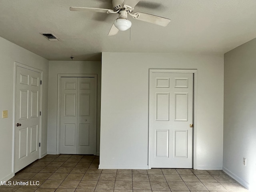
[[[42,155],[46,154],[47,106],[48,106],[48,60],[0,37],[0,180],[12,178],[12,143],[14,118],[14,62],[19,62],[43,71],[42,105]],[[8,110],[8,118],[2,111]]]

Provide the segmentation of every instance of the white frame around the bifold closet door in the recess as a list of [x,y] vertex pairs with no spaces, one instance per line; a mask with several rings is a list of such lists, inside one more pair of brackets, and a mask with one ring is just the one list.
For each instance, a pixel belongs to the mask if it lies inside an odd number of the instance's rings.
[[61,78],[62,77],[94,77],[96,79],[96,152],[97,152],[97,105],[98,105],[98,75],[97,74],[58,74],[57,90],[57,137],[56,137],[56,154],[60,154],[60,97],[61,97]]

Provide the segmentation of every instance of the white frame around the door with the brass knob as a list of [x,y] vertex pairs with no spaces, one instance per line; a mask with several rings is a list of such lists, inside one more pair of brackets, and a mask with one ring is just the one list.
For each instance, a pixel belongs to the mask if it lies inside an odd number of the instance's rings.
[[148,169],[151,169],[151,87],[150,84],[152,83],[151,76],[152,73],[193,73],[194,75],[194,95],[193,95],[193,157],[192,157],[192,164],[193,169],[197,169],[196,167],[196,125],[197,125],[197,87],[198,87],[198,74],[197,69],[149,69],[149,102],[148,102]]

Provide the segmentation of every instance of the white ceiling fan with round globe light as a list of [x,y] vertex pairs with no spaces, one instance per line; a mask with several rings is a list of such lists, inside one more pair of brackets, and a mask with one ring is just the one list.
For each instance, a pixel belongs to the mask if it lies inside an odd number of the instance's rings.
[[87,11],[87,12],[100,12],[100,13],[118,13],[119,16],[108,33],[108,36],[116,35],[118,31],[128,30],[132,26],[132,22],[127,19],[128,14],[132,18],[149,22],[152,24],[167,26],[170,23],[170,19],[150,15],[146,13],[132,13],[134,7],[140,2],[140,0],[112,0],[112,10],[111,9],[102,9],[102,8],[88,8],[88,7],[70,7],[70,11]]

